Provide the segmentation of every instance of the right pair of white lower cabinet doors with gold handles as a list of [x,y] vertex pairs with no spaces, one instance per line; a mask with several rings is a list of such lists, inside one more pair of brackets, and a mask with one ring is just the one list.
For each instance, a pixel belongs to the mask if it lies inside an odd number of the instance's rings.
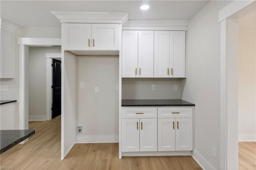
[[192,118],[158,119],[158,151],[193,150]]

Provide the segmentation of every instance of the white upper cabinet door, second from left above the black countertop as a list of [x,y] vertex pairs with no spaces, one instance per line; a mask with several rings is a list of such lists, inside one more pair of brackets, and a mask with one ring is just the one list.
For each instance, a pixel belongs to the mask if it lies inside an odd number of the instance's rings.
[[138,77],[153,77],[154,31],[138,31]]

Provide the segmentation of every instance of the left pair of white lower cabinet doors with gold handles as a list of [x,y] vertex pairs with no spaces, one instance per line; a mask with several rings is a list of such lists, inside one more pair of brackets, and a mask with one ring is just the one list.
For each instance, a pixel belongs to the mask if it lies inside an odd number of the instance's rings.
[[122,119],[122,152],[157,151],[157,119]]

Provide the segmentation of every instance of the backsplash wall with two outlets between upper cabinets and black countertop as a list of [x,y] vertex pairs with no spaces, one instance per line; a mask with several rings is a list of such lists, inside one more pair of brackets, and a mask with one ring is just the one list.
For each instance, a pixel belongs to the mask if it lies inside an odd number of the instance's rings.
[[[122,78],[122,99],[180,99],[183,79],[172,78]],[[151,90],[156,85],[156,90]],[[174,85],[178,90],[174,91]]]

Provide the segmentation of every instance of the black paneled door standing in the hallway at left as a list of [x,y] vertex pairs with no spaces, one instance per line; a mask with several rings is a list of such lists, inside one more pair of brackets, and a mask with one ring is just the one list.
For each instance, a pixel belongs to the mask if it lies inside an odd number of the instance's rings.
[[61,61],[52,59],[52,118],[61,114]]

